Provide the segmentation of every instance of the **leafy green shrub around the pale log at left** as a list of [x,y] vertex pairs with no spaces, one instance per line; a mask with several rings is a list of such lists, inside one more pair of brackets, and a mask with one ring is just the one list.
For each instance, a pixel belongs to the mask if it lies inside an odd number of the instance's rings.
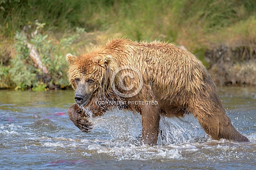
[[[39,32],[44,24],[37,23],[37,25],[34,32]],[[15,58],[11,59],[12,67],[9,70],[11,82],[15,85],[15,89],[32,88],[32,90],[38,91],[45,90],[46,87],[52,85],[68,86],[66,74],[68,66],[63,51],[67,49],[71,51],[71,44],[81,33],[84,33],[84,29],[77,28],[75,34],[68,37],[64,35],[59,44],[55,44],[49,40],[48,35],[37,33],[29,40],[25,33],[17,31],[15,36],[16,55]],[[48,74],[34,66],[29,56],[30,49],[27,47],[27,42],[31,43],[38,51],[42,64],[48,69]]]

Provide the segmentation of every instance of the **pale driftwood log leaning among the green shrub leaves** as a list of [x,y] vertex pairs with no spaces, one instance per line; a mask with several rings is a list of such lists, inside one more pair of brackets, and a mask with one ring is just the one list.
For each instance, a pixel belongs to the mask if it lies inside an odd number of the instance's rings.
[[41,69],[43,73],[47,74],[48,69],[47,67],[42,63],[41,58],[39,56],[38,51],[33,47],[31,43],[26,43],[27,47],[30,49],[30,58],[33,60],[35,65],[37,66],[37,69]]

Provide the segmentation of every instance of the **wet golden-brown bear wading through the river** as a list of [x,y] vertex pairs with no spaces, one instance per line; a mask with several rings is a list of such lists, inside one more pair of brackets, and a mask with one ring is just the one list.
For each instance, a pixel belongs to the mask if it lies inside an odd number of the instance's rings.
[[142,144],[156,145],[161,114],[185,113],[193,113],[212,139],[249,141],[226,116],[202,62],[172,43],[113,38],[89,53],[67,54],[66,59],[76,101],[68,114],[84,132],[92,129],[88,117],[118,106],[141,114]]

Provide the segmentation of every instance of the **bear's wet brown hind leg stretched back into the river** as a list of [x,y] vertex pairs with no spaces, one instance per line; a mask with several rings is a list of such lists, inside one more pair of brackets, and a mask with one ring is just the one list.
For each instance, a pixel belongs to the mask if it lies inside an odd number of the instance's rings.
[[205,132],[212,139],[229,139],[234,141],[249,141],[232,125],[223,109],[217,88],[210,76],[205,79],[205,88],[194,98],[192,108],[189,109],[197,117]]

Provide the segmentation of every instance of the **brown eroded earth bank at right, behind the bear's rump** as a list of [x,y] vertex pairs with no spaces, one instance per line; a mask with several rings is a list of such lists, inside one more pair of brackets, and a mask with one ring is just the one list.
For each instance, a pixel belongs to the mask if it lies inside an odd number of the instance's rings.
[[256,85],[256,44],[207,50],[208,72],[217,85]]

